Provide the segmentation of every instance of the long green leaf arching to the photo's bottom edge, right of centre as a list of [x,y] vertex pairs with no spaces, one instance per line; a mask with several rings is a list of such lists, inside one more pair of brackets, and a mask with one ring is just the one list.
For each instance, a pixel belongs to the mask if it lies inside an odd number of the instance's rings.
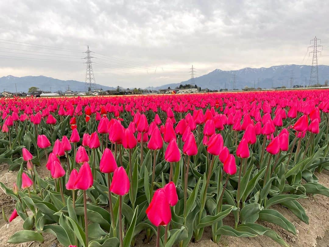
[[272,238],[274,241],[278,242],[279,244],[283,246],[289,247],[285,241],[274,231],[272,231],[269,228],[266,228],[264,226],[255,224],[255,223],[246,223],[246,224],[241,224],[237,227],[238,231],[241,232],[249,232],[253,234],[258,234],[258,235],[266,235],[270,238]]

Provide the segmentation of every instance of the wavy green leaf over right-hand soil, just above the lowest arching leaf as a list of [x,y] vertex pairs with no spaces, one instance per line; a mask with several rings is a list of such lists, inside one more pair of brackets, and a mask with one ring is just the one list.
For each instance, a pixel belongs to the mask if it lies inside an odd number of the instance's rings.
[[281,213],[273,209],[264,209],[259,212],[259,220],[271,222],[296,235],[296,228]]

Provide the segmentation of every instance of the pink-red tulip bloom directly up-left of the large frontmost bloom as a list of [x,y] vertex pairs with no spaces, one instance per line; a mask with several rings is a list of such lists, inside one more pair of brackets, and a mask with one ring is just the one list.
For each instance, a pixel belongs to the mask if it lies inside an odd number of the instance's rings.
[[130,182],[126,171],[122,166],[115,169],[110,191],[116,195],[123,196],[129,192]]

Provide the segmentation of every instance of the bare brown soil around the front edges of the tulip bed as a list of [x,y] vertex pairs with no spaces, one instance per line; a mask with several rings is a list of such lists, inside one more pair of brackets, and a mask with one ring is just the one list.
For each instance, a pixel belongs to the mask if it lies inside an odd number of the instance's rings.
[[[49,174],[45,166],[37,167],[38,173],[45,177]],[[6,186],[12,187],[13,182],[16,181],[17,172],[7,172],[7,167],[0,167],[0,181],[5,183]],[[316,173],[316,177],[319,183],[326,187],[329,187],[329,172],[323,171],[322,173]],[[305,208],[307,215],[309,216],[310,224],[307,225],[300,221],[294,214],[292,214],[287,208],[275,205],[273,209],[282,213],[289,221],[291,221],[297,229],[297,235],[288,233],[271,223],[257,222],[270,229],[273,229],[278,233],[285,242],[292,247],[325,247],[329,246],[329,198],[322,195],[309,195],[307,199],[301,200],[300,203]],[[6,196],[5,193],[0,190],[0,208],[3,208],[7,218],[10,217],[14,209],[10,196]],[[232,224],[233,219],[228,217],[225,219],[225,224]],[[43,234],[45,239],[43,244],[37,242],[28,242],[25,244],[8,244],[8,238],[15,232],[23,230],[23,220],[20,217],[14,219],[10,224],[7,224],[2,217],[0,217],[0,246],[22,246],[22,247],[62,247],[56,240],[56,237],[51,234]],[[218,247],[218,246],[232,246],[232,247],[279,247],[280,245],[274,242],[272,239],[266,236],[257,236],[254,238],[236,238],[230,236],[222,236],[220,243],[215,244],[211,241],[211,229],[205,229],[202,239],[197,242],[191,242],[189,247]],[[145,243],[145,232],[139,234],[136,238],[137,247],[155,246],[154,237],[149,243]]]

